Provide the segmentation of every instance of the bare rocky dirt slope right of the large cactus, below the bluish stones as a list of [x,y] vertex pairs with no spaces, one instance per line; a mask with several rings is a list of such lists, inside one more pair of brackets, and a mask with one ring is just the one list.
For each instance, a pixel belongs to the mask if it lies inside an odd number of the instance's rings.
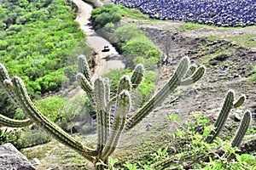
[[[132,22],[132,20],[129,20]],[[129,160],[144,160],[143,148],[152,147],[158,150],[159,147],[171,141],[165,134],[173,132],[177,124],[168,121],[170,114],[176,114],[182,122],[193,122],[195,119],[191,112],[202,113],[213,122],[223,105],[225,94],[233,89],[236,99],[245,94],[247,100],[244,105],[231,111],[228,122],[225,124],[225,135],[235,133],[240,124],[244,111],[250,110],[254,115],[252,127],[256,126],[256,82],[249,82],[253,66],[256,65],[256,52],[253,48],[244,48],[224,38],[222,34],[236,35],[239,32],[250,34],[256,31],[252,29],[237,29],[219,31],[208,28],[211,34],[203,28],[191,31],[180,31],[183,23],[164,22],[154,24],[137,23],[165,54],[165,46],[170,49],[170,57],[165,65],[161,66],[160,89],[172,76],[180,59],[187,55],[193,64],[206,65],[207,73],[193,85],[177,88],[166,101],[150,113],[137,127],[123,135],[119,150],[115,156],[126,156]],[[221,33],[223,32],[223,33]],[[214,35],[218,38],[212,39]],[[166,40],[168,43],[165,43]],[[172,139],[171,139],[172,140]],[[127,142],[128,141],[128,142]],[[130,142],[129,142],[130,141]],[[131,142],[132,141],[132,142]],[[137,146],[135,148],[134,146]],[[155,149],[153,149],[155,148]],[[132,150],[132,151],[131,151]],[[148,150],[147,150],[148,151]],[[131,156],[129,156],[129,154]],[[122,160],[122,159],[120,159]]]

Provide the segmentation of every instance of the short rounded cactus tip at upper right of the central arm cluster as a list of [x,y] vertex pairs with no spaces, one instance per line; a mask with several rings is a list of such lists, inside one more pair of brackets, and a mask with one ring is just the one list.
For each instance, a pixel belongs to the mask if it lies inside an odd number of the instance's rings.
[[135,67],[131,76],[132,88],[137,88],[138,85],[143,81],[144,73],[145,69],[143,65],[139,64]]

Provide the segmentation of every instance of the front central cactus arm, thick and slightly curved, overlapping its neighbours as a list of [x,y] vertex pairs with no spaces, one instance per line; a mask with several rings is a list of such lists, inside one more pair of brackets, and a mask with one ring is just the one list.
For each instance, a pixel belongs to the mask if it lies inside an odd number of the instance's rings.
[[102,150],[102,160],[106,160],[115,150],[120,135],[125,127],[125,117],[130,111],[131,96],[127,90],[119,94],[116,102],[114,122],[105,148]]

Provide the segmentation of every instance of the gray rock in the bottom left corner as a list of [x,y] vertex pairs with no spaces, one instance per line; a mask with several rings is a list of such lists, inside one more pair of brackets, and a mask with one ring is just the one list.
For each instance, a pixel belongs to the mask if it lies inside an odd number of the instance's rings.
[[0,170],[35,170],[36,168],[13,144],[0,146]]

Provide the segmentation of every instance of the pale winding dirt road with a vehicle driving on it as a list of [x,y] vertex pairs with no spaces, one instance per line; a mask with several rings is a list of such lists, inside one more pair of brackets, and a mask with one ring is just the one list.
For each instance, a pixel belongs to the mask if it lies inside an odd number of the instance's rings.
[[[73,0],[73,3],[76,3],[76,5],[79,7],[79,13],[76,21],[79,22],[80,28],[87,35],[87,44],[96,52],[96,69],[93,77],[98,77],[104,73],[108,73],[110,69],[125,68],[125,64],[121,60],[106,60],[106,57],[109,54],[118,54],[118,52],[115,50],[115,48],[113,48],[110,42],[97,36],[96,32],[92,30],[89,20],[92,7],[89,4],[84,3],[82,0]],[[108,52],[102,52],[103,47],[106,45],[108,45],[110,50]]]

